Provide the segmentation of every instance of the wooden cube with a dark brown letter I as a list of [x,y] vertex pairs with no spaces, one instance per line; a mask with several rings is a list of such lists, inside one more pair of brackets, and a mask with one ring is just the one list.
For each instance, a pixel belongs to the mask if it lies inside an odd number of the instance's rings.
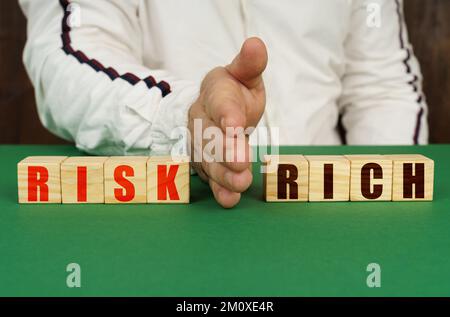
[[309,162],[309,201],[350,200],[350,161],[345,156],[305,158]]

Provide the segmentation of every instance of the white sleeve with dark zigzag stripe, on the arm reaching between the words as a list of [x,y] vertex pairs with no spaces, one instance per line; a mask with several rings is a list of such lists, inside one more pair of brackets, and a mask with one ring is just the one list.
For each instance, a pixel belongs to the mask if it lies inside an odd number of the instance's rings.
[[199,83],[142,61],[138,0],[20,0],[40,119],[92,154],[167,154]]

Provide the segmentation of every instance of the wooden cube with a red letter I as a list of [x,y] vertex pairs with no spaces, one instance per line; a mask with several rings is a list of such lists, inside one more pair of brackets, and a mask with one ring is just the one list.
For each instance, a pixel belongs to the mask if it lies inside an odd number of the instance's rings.
[[103,165],[107,157],[69,157],[61,164],[63,204],[103,204]]

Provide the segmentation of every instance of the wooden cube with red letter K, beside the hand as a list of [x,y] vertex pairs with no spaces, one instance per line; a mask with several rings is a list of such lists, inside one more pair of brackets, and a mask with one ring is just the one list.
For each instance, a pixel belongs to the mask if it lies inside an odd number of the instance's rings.
[[152,156],[147,161],[147,202],[188,204],[189,157]]

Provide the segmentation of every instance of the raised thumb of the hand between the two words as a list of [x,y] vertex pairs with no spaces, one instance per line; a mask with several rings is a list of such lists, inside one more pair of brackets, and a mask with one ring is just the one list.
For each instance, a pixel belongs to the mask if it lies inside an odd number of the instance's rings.
[[228,72],[248,89],[262,85],[262,73],[267,66],[267,49],[256,37],[247,39],[233,62],[226,67]]

